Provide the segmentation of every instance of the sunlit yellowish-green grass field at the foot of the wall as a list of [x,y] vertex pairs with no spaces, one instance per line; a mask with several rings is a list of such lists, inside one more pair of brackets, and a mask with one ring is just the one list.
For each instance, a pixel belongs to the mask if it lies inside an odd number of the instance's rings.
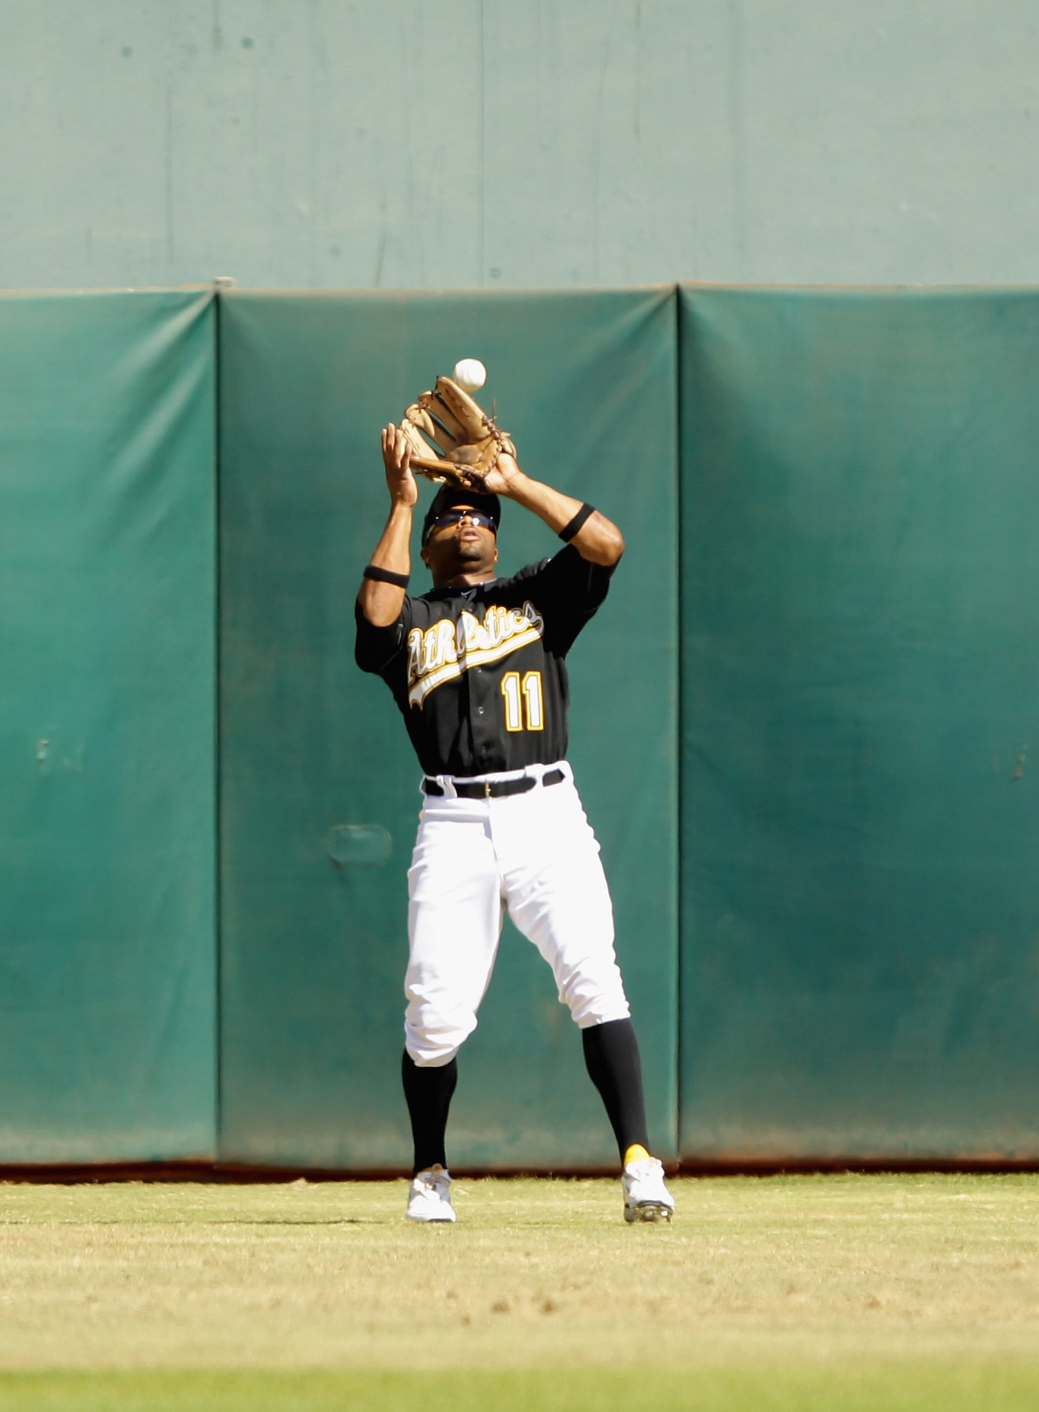
[[1039,1178],[0,1186],[0,1412],[1039,1408]]

